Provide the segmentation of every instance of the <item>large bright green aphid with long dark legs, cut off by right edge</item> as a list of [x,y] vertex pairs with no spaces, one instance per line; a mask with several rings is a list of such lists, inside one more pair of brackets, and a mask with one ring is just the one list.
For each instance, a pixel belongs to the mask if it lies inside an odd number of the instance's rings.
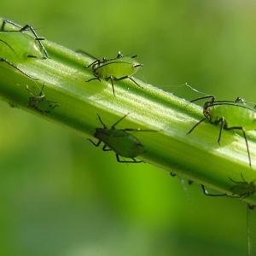
[[255,108],[247,105],[247,103],[237,97],[234,102],[232,101],[215,101],[214,96],[203,96],[197,98],[191,102],[195,102],[202,99],[209,99],[204,103],[203,114],[204,119],[201,119],[195,124],[188,134],[192,132],[197,125],[202,122],[210,122],[214,125],[220,124],[220,130],[218,134],[218,144],[220,144],[222,130],[239,130],[242,132],[246,142],[247,155],[249,160],[249,166],[252,166],[251,156],[247,143],[246,131],[252,131],[256,129],[256,112]]

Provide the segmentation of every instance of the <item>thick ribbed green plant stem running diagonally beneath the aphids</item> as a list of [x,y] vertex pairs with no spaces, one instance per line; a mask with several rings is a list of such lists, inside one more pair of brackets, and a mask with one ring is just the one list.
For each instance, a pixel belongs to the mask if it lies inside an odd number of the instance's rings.
[[[6,63],[0,63],[0,95],[4,101],[73,128],[84,137],[93,137],[96,127],[101,127],[96,113],[108,126],[129,113],[119,128],[157,130],[134,133],[146,150],[139,156],[142,160],[224,193],[234,186],[229,177],[241,181],[242,173],[248,182],[255,178],[248,166],[245,141],[234,131],[223,131],[221,146],[217,143],[217,125],[202,123],[187,135],[203,118],[202,108],[142,81],[138,83],[143,89],[128,80],[116,82],[114,97],[110,83],[85,82],[93,77],[91,70],[85,68],[93,61],[90,56],[49,41],[44,41],[44,46],[49,59],[16,62],[20,69],[38,80],[29,79]],[[16,52],[23,48],[24,45],[15,44]],[[47,100],[59,105],[46,114],[28,106],[31,94],[26,90],[28,86],[38,93],[43,84]],[[256,136],[253,132],[247,135],[254,170]],[[99,150],[99,154],[103,154],[102,151]],[[256,205],[256,196],[245,201]]]

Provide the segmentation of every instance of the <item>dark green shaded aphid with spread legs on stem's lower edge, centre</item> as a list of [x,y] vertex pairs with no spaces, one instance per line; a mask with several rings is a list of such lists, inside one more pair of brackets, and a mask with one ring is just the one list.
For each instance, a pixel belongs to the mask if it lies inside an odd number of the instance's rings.
[[[103,128],[96,128],[94,133],[94,137],[98,139],[97,143],[94,143],[91,139],[88,139],[90,143],[99,147],[101,143],[103,143],[102,150],[110,151],[113,150],[115,152],[116,159],[119,163],[141,163],[143,160],[136,160],[135,158],[143,154],[145,149],[143,144],[127,131],[155,131],[155,130],[141,130],[141,129],[115,129],[115,126],[119,124],[120,121],[125,119],[128,115],[125,114],[121,119],[115,122],[111,128],[108,128],[103,122],[101,117],[97,114],[98,119],[100,120]],[[119,156],[123,156],[126,158],[131,158],[131,160],[120,160]]]

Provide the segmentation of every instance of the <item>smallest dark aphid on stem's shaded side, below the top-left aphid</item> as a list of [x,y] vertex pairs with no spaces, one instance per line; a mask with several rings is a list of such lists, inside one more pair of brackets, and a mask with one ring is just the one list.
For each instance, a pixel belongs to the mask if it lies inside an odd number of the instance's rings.
[[26,86],[26,90],[28,90],[32,96],[28,98],[28,107],[34,108],[40,113],[50,113],[56,107],[59,107],[57,102],[48,101],[44,95],[44,84],[39,92],[39,94],[35,94],[32,90]]

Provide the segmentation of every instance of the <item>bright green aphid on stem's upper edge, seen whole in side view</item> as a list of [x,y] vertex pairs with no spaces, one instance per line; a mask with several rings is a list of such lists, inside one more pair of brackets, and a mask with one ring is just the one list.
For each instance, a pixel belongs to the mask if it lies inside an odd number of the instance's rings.
[[[88,67],[91,67],[95,78],[89,79],[86,82],[90,82],[92,80],[101,81],[101,79],[105,79],[106,81],[110,80],[112,84],[113,95],[115,96],[113,81],[130,79],[133,83],[137,84],[137,82],[131,78],[131,75],[137,73],[138,69],[143,67],[143,64],[135,61],[134,58],[136,57],[137,55],[131,57],[123,56],[119,52],[119,54],[113,59],[108,60],[103,58],[102,60],[93,61]],[[142,88],[140,84],[137,84],[137,86]]]

